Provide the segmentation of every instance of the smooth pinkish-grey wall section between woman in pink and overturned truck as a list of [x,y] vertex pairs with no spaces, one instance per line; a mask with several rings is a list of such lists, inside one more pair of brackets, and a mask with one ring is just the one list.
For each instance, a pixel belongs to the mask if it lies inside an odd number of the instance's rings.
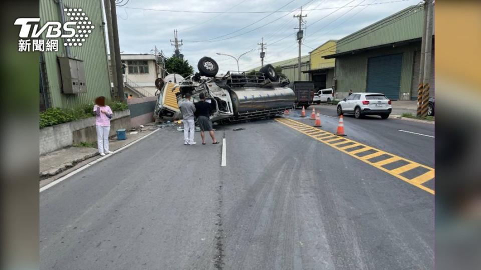
[[130,110],[130,126],[139,126],[154,120],[157,98],[158,96],[146,96],[127,100]]

